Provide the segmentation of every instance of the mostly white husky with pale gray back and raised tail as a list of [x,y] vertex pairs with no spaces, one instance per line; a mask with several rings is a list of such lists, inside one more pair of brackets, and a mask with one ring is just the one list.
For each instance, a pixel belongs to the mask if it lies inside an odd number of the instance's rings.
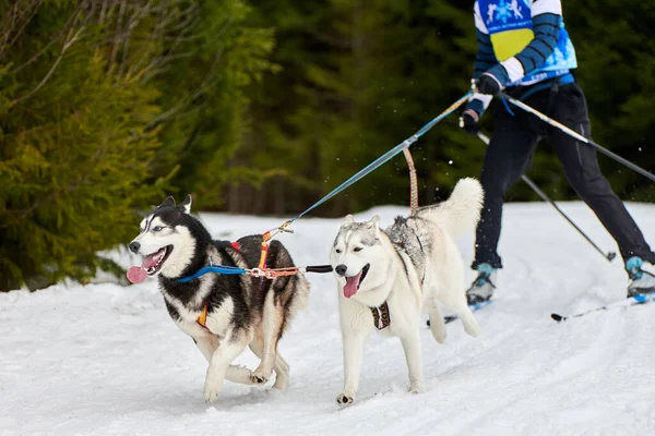
[[397,217],[381,231],[376,216],[355,222],[348,215],[334,240],[331,263],[337,279],[345,386],[340,404],[355,401],[364,339],[373,330],[401,339],[409,370],[410,390],[424,389],[420,312],[427,308],[432,336],[445,340],[442,303],[455,312],[466,332],[479,326],[466,304],[464,266],[453,238],[477,225],[483,187],[463,179],[450,198]]

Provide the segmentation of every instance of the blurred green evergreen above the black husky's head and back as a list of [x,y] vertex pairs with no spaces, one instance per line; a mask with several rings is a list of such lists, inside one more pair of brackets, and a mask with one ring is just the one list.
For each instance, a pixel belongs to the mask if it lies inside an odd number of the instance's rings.
[[249,129],[249,99],[243,89],[274,65],[267,60],[273,31],[245,24],[251,9],[241,0],[198,2],[190,12],[193,37],[164,46],[176,59],[156,78],[166,89],[158,99],[166,112],[153,121],[160,125],[163,147],[155,173],[170,167],[179,171],[171,187],[180,196],[196,196],[195,207],[211,209],[223,203],[228,182],[261,179],[261,171],[229,162]]

